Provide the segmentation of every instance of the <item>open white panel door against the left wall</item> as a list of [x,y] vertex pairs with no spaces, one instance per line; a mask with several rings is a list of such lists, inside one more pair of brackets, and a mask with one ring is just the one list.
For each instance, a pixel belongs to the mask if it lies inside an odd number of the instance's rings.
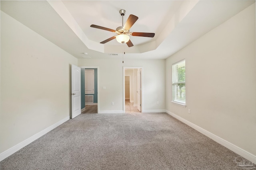
[[71,118],[81,114],[81,68],[71,65]]

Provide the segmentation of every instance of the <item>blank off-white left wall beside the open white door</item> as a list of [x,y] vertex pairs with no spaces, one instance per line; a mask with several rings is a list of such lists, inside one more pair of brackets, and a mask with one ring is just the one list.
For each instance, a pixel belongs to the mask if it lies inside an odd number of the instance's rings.
[[70,117],[77,59],[1,12],[0,152]]

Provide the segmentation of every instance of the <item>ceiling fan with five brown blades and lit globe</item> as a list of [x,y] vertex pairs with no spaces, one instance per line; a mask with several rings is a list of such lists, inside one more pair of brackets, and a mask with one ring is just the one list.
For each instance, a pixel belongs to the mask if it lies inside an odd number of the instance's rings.
[[128,47],[132,47],[132,41],[130,40],[130,36],[138,36],[138,37],[154,37],[155,33],[140,33],[140,32],[129,32],[130,28],[132,27],[132,25],[138,20],[137,16],[134,15],[130,15],[126,21],[126,23],[124,24],[124,14],[126,13],[125,10],[120,10],[119,13],[122,16],[122,26],[117,27],[116,30],[114,29],[110,29],[110,28],[106,28],[106,27],[101,27],[98,25],[91,25],[90,27],[93,28],[98,28],[98,29],[103,29],[106,31],[111,31],[116,33],[117,35],[110,37],[109,39],[106,39],[102,42],[100,42],[101,44],[105,44],[108,41],[111,41],[113,39],[116,39],[119,43],[126,43],[128,45]]

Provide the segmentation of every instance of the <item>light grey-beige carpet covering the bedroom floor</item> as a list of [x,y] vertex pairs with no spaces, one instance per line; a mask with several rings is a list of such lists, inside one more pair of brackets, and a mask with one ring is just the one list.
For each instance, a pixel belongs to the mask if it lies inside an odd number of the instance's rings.
[[81,114],[1,170],[232,170],[238,155],[167,113]]

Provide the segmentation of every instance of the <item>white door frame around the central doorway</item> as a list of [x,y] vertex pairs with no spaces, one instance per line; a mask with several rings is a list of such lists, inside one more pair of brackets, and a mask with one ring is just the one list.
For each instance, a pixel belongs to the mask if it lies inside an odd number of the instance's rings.
[[143,113],[144,109],[144,104],[143,104],[143,67],[141,66],[123,66],[123,111],[125,113],[125,69],[140,69],[141,68],[141,113]]

